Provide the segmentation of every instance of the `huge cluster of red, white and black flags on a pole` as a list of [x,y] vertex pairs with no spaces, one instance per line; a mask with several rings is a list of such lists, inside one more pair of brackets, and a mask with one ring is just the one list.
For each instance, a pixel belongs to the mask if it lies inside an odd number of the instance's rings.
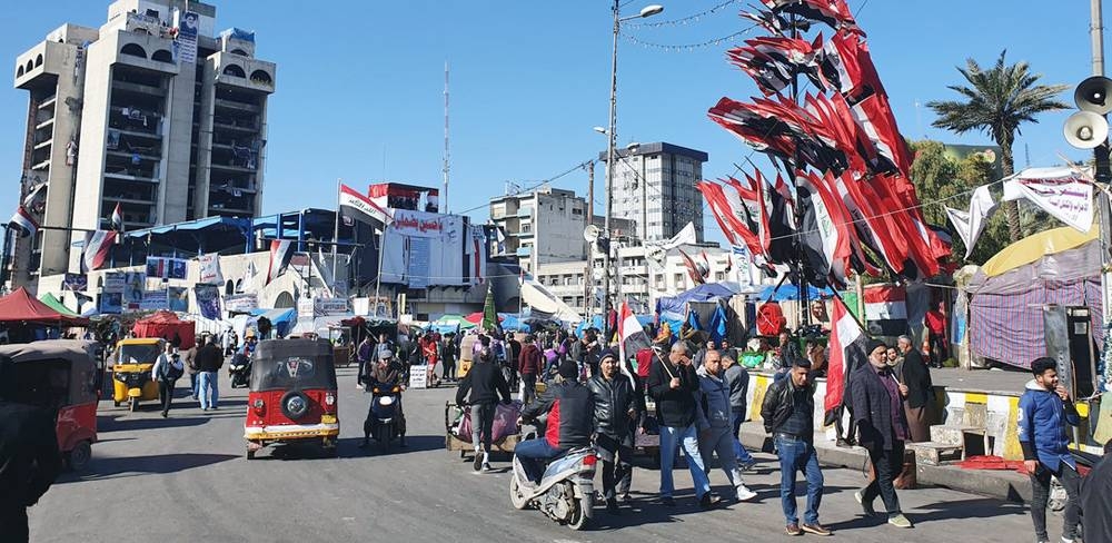
[[[909,279],[940,272],[950,243],[926,224],[907,178],[912,154],[873,66],[865,34],[845,0],[762,0],[743,13],[772,36],[727,52],[765,95],[748,102],[722,98],[709,118],[784,168],[744,180],[701,181],[699,191],[733,246],[755,265],[794,266],[816,286],[844,287],[851,273],[883,268]],[[834,33],[824,39],[813,26]],[[800,76],[817,91],[784,96]],[[801,211],[796,223],[796,207]]]

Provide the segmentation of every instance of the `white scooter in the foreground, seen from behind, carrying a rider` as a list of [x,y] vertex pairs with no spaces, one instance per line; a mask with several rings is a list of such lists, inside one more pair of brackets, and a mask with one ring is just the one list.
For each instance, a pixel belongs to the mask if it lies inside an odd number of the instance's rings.
[[553,460],[545,468],[540,483],[534,484],[525,475],[517,455],[514,455],[509,500],[517,510],[532,505],[557,523],[567,524],[572,530],[584,530],[593,516],[597,462],[594,447],[573,448]]

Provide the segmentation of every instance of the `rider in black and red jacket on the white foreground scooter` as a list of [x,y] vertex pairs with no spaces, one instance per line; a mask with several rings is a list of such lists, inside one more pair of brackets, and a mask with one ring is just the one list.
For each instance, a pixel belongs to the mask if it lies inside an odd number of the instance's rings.
[[578,377],[578,365],[574,361],[563,362],[559,365],[559,383],[547,388],[536,402],[522,409],[518,423],[548,414],[545,435],[520,442],[514,450],[532,484],[540,482],[546,461],[570,448],[590,445],[595,402],[590,391],[579,383]]

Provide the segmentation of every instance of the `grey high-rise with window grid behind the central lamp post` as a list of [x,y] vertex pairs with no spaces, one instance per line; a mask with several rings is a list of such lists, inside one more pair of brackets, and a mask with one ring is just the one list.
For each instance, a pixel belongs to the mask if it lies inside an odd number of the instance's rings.
[[[606,160],[606,151],[598,156]],[[706,152],[663,141],[617,149],[612,220],[633,221],[629,234],[647,241],[667,239],[694,223],[703,241],[703,195],[695,182],[703,179],[706,160]]]

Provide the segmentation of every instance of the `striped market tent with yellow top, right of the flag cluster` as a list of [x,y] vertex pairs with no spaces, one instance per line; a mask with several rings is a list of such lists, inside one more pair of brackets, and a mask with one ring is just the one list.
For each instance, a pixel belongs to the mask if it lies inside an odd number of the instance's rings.
[[973,275],[967,292],[969,338],[974,354],[1029,368],[1046,356],[1043,306],[1090,308],[1098,348],[1101,326],[1101,250],[1098,228],[1055,228],[1021,239]]

